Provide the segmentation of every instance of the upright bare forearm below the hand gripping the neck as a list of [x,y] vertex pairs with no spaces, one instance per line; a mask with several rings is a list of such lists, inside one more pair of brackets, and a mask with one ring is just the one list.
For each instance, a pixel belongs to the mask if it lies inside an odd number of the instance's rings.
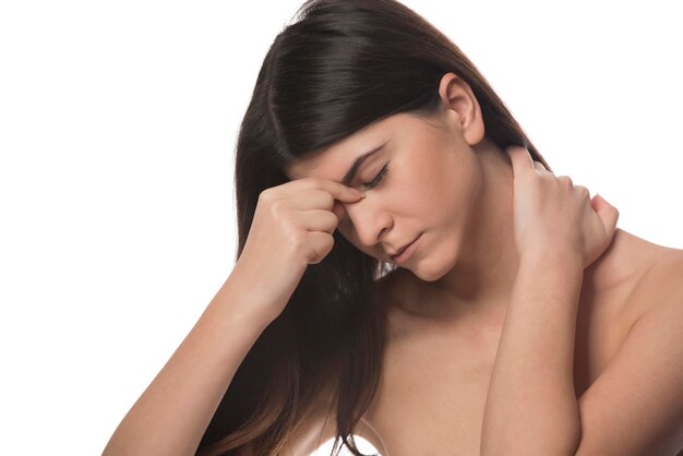
[[481,455],[574,454],[580,260],[543,254],[520,262],[489,384]]

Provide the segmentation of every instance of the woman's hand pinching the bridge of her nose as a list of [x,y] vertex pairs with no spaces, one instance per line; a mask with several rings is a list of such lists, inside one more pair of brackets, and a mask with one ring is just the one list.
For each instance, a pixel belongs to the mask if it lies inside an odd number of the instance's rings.
[[237,284],[266,323],[285,309],[309,264],[320,263],[334,247],[344,206],[362,193],[342,183],[303,178],[264,190],[229,280]]

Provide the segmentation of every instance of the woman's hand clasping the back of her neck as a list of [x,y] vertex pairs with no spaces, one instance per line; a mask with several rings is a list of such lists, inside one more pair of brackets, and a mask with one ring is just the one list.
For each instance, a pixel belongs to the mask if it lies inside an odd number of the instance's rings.
[[[619,211],[568,176],[556,177],[519,146],[507,147],[514,172],[515,242],[520,257],[578,252],[584,268],[612,241]],[[565,250],[563,250],[565,249]],[[568,249],[568,250],[566,250]]]

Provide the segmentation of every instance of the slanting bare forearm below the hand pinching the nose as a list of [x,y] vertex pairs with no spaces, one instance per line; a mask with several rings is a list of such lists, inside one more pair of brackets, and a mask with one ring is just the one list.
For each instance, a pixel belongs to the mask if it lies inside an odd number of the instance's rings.
[[125,415],[103,455],[194,454],[265,322],[251,317],[228,279]]

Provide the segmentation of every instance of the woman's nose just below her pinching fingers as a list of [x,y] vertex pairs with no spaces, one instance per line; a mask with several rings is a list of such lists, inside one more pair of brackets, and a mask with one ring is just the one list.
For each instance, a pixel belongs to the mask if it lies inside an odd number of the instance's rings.
[[388,211],[371,195],[356,203],[344,203],[344,207],[346,214],[339,221],[339,228],[367,248],[380,242],[394,224]]

